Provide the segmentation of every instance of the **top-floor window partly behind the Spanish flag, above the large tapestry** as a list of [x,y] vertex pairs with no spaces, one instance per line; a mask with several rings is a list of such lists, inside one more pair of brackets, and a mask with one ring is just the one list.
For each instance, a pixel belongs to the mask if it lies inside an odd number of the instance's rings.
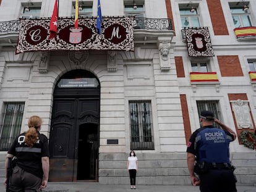
[[[75,2],[72,2],[72,16],[75,15]],[[80,17],[92,17],[93,14],[93,2],[92,1],[82,1],[79,2],[79,16]]]

